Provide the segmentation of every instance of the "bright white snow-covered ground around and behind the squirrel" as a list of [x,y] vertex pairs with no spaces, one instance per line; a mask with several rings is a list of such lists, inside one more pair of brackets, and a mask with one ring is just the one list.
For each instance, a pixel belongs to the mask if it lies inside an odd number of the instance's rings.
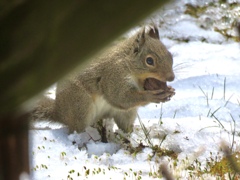
[[[133,146],[140,142],[149,146],[140,119],[150,131],[151,143],[159,145],[166,136],[161,147],[176,152],[187,166],[195,159],[204,162],[211,154],[221,154],[222,141],[233,144],[234,150],[240,148],[240,46],[184,15],[186,2],[197,1],[177,1],[151,18],[174,57],[176,79],[169,84],[176,95],[170,102],[140,108],[130,139]],[[158,172],[169,159],[149,158],[150,147],[131,154],[120,143],[101,143],[93,128],[68,135],[67,128],[58,124],[35,126],[52,127],[29,131],[35,180],[151,179],[149,173]],[[183,164],[170,171],[176,178],[188,179]]]

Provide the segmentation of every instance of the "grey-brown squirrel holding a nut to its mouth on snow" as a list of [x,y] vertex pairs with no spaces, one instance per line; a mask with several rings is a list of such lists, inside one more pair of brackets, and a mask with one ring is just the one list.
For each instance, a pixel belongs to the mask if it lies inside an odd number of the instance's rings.
[[33,118],[61,122],[79,133],[100,119],[113,118],[118,128],[132,132],[139,106],[166,102],[175,94],[166,86],[175,78],[172,66],[157,27],[143,27],[83,71],[58,82],[55,100],[40,100]]

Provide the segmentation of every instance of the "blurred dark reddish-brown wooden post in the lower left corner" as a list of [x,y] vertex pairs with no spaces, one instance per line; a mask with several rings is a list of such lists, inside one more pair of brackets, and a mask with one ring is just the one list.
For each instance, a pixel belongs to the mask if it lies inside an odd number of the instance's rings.
[[29,173],[27,119],[27,114],[0,119],[0,179],[18,180]]

